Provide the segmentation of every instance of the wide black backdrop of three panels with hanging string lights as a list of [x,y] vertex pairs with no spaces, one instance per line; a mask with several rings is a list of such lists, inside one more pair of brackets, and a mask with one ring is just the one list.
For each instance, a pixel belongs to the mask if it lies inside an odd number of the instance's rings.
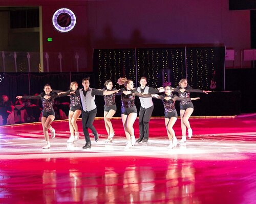
[[[225,90],[225,47],[94,49],[94,73],[96,84],[104,86],[106,80],[114,85],[120,77],[126,77],[139,86],[141,77],[147,85],[160,87],[171,83],[178,86],[182,78],[193,88]],[[214,74],[215,73],[215,74]]]

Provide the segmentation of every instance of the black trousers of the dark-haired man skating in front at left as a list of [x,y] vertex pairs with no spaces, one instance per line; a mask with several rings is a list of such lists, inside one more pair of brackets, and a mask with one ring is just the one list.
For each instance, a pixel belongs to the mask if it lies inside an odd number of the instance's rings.
[[97,108],[91,111],[82,111],[82,130],[86,142],[91,142],[88,128],[93,132],[94,137],[98,134],[95,127],[93,126],[93,121],[97,114]]

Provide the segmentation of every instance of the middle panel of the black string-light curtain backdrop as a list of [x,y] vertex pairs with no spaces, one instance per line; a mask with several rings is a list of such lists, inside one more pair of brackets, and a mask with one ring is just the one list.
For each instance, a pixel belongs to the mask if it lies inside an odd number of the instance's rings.
[[152,87],[171,83],[178,85],[185,77],[184,48],[137,49],[138,79],[146,77]]

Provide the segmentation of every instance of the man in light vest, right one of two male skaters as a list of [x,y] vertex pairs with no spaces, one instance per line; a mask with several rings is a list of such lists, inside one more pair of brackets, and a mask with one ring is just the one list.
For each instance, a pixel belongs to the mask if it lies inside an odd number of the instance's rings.
[[[146,86],[146,78],[140,78],[140,87],[136,88],[139,93],[151,93],[157,94],[159,91],[152,87]],[[140,113],[139,113],[139,129],[140,129],[140,137],[136,140],[136,142],[147,142],[148,140],[148,129],[150,118],[154,109],[154,104],[152,98],[142,98],[140,99]]]

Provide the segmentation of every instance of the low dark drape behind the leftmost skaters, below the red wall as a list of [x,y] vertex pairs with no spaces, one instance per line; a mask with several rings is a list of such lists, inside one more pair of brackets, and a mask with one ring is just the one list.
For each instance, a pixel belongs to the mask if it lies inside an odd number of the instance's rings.
[[95,86],[92,72],[0,73],[0,93],[8,95],[14,102],[17,95],[41,93],[45,84],[50,84],[52,89],[68,90],[70,82],[76,81],[78,87],[82,87],[84,77],[90,77],[91,87]]

